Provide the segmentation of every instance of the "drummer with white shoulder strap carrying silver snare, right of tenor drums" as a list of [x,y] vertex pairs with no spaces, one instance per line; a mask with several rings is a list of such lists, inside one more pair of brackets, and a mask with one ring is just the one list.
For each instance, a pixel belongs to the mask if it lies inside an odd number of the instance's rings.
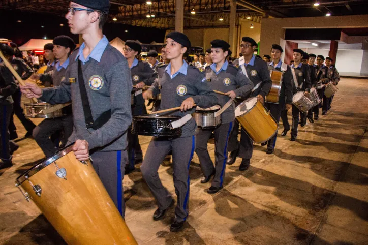
[[[311,89],[311,75],[310,69],[308,65],[304,65],[301,63],[301,58],[303,57],[304,51],[301,49],[294,49],[293,50],[293,59],[294,64],[290,66],[291,68],[291,75],[293,80],[293,95],[296,94],[298,91],[304,91],[304,93],[309,93]],[[293,124],[291,127],[291,138],[290,141],[295,141],[296,136],[298,135],[298,124],[299,124],[299,114],[300,119],[306,120],[306,112],[301,112],[298,107],[294,104],[292,106],[292,117],[293,117]],[[283,111],[281,113],[281,119],[283,121],[284,130],[281,133],[281,136],[285,136],[287,132],[290,130],[290,125],[288,122],[288,115],[287,111]]]

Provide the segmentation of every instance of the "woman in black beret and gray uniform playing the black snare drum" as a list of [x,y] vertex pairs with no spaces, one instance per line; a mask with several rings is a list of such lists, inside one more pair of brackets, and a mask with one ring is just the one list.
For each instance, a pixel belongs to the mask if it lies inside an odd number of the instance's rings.
[[189,213],[189,167],[196,148],[197,128],[196,121],[191,116],[195,111],[193,106],[196,104],[208,108],[216,105],[218,99],[207,84],[204,72],[183,61],[183,54],[191,47],[188,37],[180,32],[171,32],[166,36],[166,44],[170,63],[158,70],[158,80],[144,92],[143,97],[152,98],[160,91],[160,109],[180,107],[179,111],[169,114],[181,117],[181,136],[168,139],[152,138],[144,156],[141,172],[157,201],[158,209],[154,213],[154,220],[161,220],[168,208],[174,204],[174,199],[162,185],[157,171],[166,155],[172,151],[177,205],[170,231],[176,232],[183,228]]

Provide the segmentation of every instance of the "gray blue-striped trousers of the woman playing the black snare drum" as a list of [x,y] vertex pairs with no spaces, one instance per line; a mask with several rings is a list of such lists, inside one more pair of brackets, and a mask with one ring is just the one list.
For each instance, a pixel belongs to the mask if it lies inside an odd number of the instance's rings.
[[195,136],[161,140],[152,138],[141,166],[141,172],[149,189],[154,195],[159,209],[166,209],[172,201],[167,189],[162,185],[158,169],[166,155],[172,151],[172,165],[177,204],[175,220],[185,221],[188,217],[189,167],[196,148]]

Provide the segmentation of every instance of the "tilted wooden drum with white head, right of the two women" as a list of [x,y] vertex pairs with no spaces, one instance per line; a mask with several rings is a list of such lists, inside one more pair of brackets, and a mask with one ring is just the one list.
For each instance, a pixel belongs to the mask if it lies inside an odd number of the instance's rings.
[[243,101],[235,108],[235,117],[256,143],[269,140],[279,129],[278,123],[256,97]]

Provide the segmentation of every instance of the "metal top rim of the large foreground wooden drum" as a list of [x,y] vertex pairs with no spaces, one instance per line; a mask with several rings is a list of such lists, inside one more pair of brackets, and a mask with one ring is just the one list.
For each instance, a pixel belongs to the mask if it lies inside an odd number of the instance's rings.
[[40,172],[42,169],[44,169],[45,167],[47,167],[51,163],[53,163],[56,160],[64,157],[69,152],[73,151],[73,145],[74,145],[74,143],[69,144],[65,148],[63,148],[63,149],[59,150],[58,152],[56,152],[55,155],[53,155],[52,157],[49,157],[45,161],[43,161],[41,163],[38,163],[38,164],[34,165],[33,167],[29,168],[24,173],[22,173],[21,175],[19,175],[19,177],[17,177],[15,183],[17,185],[20,185],[25,180],[27,180],[28,178],[32,177],[36,173]]

